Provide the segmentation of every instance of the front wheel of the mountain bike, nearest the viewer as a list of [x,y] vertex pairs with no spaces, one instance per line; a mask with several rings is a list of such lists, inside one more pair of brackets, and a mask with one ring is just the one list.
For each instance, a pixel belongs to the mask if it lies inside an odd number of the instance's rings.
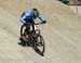
[[36,39],[35,39],[35,50],[38,53],[43,54],[45,51],[45,43],[44,43],[44,39],[41,35],[37,35]]

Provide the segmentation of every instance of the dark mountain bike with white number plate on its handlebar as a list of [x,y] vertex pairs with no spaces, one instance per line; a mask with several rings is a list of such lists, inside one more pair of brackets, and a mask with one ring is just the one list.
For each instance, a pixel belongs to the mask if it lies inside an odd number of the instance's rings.
[[27,42],[29,43],[35,51],[37,51],[38,53],[43,54],[44,50],[45,50],[45,43],[44,43],[44,39],[40,33],[40,28],[39,25],[41,23],[37,23],[37,24],[24,24],[21,27],[21,37]]

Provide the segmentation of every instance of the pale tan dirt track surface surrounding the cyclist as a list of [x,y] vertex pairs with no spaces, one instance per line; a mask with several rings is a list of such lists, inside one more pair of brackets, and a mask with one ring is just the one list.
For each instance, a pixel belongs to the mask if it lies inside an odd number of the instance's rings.
[[[17,45],[18,18],[31,8],[38,8],[48,21],[40,26],[46,46],[44,56]],[[0,0],[0,63],[81,63],[81,17],[54,0]]]

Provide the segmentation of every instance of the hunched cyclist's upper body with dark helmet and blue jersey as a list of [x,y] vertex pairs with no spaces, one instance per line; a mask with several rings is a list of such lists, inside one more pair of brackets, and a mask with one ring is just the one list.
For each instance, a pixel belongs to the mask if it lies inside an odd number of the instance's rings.
[[[23,24],[26,24],[27,25],[28,23],[29,24],[35,24],[35,20],[37,17],[40,20],[41,24],[45,24],[46,23],[45,18],[40,15],[38,9],[31,9],[31,10],[25,11],[22,14],[22,16],[21,16],[19,20],[21,20],[21,22]],[[27,27],[29,27],[29,26],[27,26]],[[26,30],[28,30],[28,29],[26,29]]]

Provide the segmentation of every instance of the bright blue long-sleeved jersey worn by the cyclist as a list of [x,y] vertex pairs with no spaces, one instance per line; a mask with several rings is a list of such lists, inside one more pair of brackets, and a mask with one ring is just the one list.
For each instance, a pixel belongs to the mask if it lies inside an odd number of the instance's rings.
[[[25,23],[25,18],[32,18],[32,15],[33,15],[33,11],[32,10],[28,10],[24,13],[24,15],[19,18],[22,23]],[[40,14],[38,16],[38,18],[43,22],[45,21],[44,17],[42,17]]]

